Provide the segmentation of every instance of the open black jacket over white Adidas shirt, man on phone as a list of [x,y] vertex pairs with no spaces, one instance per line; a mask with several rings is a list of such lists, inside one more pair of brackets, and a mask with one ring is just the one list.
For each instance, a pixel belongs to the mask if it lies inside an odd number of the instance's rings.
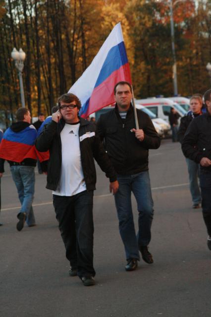
[[[94,158],[100,165],[101,169],[109,177],[110,182],[116,181],[116,173],[106,154],[103,144],[100,140],[96,127],[92,123],[80,119],[79,137],[86,133],[95,132],[92,137],[86,137],[80,141],[81,164],[84,174],[84,180],[87,190],[95,190],[96,185],[96,169]],[[50,159],[48,163],[47,186],[49,190],[59,188],[60,172],[61,172],[61,138],[60,132],[65,122],[63,119],[59,123],[54,121],[46,125],[36,140],[36,148],[40,152],[50,150]],[[67,144],[71,146],[71,144]]]

